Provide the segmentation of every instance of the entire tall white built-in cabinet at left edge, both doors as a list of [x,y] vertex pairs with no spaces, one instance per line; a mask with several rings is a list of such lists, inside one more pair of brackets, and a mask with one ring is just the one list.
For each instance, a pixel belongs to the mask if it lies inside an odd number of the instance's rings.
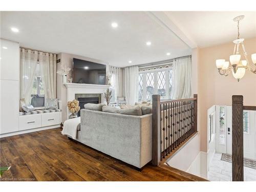
[[4,134],[18,131],[19,44],[0,40],[0,134]]

